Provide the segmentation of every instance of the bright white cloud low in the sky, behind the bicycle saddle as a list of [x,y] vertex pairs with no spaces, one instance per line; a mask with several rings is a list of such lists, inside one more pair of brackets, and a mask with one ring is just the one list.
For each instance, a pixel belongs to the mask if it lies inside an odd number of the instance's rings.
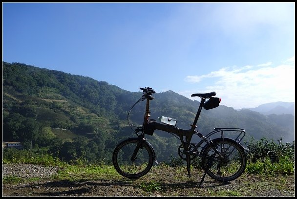
[[[276,101],[295,101],[295,57],[284,64],[272,66],[271,62],[253,67],[222,68],[207,75],[187,76],[185,81],[191,83],[212,82],[203,92],[216,91],[222,98],[222,105],[233,108],[251,108]],[[212,78],[211,81],[208,79]],[[179,94],[192,100],[196,91],[184,91]]]

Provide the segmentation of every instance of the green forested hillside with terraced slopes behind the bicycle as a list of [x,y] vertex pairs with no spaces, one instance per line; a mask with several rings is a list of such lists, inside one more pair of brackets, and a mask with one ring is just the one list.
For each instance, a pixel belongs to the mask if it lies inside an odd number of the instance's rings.
[[[88,77],[42,69],[21,63],[2,62],[2,141],[21,141],[25,147],[46,148],[66,160],[110,160],[115,145],[134,137],[127,124],[127,112],[142,96],[128,92],[121,85],[110,85]],[[139,85],[146,87],[149,85]],[[199,91],[197,91],[199,93]],[[190,128],[199,105],[173,91],[156,93],[151,100],[151,119],[169,116],[177,126]],[[219,96],[218,96],[219,97]],[[199,100],[199,101],[198,101]],[[224,99],[222,99],[224,100]],[[141,124],[145,102],[130,114]],[[202,110],[197,129],[207,134],[214,127],[243,128],[244,141],[261,139],[295,139],[295,117],[291,114],[261,115],[250,110],[236,111],[219,106]],[[178,139],[156,131],[148,136],[158,161],[177,156]]]

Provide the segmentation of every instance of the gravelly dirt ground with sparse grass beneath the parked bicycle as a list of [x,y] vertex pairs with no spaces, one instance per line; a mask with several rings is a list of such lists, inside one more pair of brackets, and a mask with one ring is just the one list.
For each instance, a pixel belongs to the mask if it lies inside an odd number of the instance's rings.
[[[41,175],[44,168],[25,169],[19,165],[19,175]],[[28,167],[28,165],[26,165]],[[56,168],[52,168],[56,169]],[[9,170],[9,169],[7,169]],[[9,173],[9,171],[7,171]],[[11,171],[10,171],[11,172]],[[14,171],[14,175],[17,175]],[[51,170],[53,172],[53,170]],[[54,173],[54,172],[53,172]],[[82,179],[76,181],[54,180],[44,175],[40,180],[22,183],[2,183],[2,197],[189,197],[189,196],[250,196],[295,197],[295,177],[263,178],[243,174],[231,182],[218,182],[206,176],[202,187],[202,173],[193,170],[191,178],[177,173],[174,168],[152,169],[140,179]],[[2,165],[3,176],[3,165]],[[141,186],[145,184],[145,186]],[[151,190],[149,189],[151,186]]]

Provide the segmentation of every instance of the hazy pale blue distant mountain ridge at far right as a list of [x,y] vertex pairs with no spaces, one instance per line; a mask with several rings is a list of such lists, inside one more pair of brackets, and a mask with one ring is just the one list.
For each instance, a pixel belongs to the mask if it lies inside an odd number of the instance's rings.
[[[266,116],[271,114],[276,114],[276,115],[292,114],[293,116],[295,116],[295,102],[277,101],[277,102],[261,104],[255,108],[243,108],[243,109],[249,109],[251,111],[255,111]],[[243,109],[239,109],[238,111]]]

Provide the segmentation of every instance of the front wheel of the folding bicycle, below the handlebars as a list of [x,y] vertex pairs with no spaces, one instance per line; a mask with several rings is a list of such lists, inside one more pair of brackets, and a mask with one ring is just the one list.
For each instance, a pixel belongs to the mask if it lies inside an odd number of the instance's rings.
[[[133,152],[139,146],[133,159]],[[154,152],[149,144],[140,139],[126,139],[119,143],[113,151],[112,163],[116,171],[124,177],[137,179],[151,169],[154,162]]]

